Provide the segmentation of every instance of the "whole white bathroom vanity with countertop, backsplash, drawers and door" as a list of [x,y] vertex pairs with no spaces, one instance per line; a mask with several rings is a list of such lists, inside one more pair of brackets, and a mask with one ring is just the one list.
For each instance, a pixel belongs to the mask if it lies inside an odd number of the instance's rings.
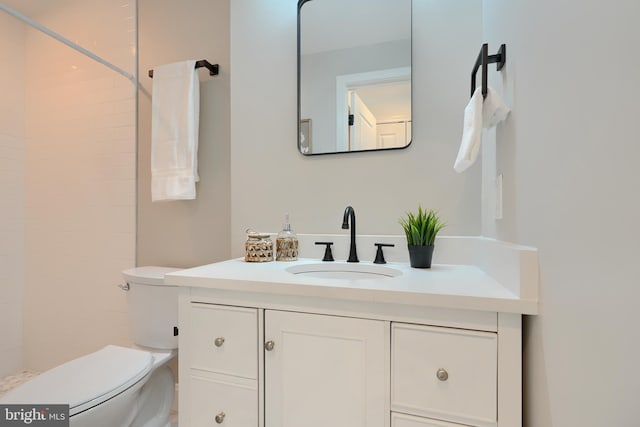
[[537,253],[438,245],[429,270],[236,259],[167,275],[181,287],[180,425],[521,426]]

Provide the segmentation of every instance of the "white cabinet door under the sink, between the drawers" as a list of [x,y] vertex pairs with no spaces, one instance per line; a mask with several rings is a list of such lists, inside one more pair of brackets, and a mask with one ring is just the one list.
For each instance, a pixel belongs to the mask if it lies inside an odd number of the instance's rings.
[[267,311],[265,341],[265,427],[388,426],[387,322]]

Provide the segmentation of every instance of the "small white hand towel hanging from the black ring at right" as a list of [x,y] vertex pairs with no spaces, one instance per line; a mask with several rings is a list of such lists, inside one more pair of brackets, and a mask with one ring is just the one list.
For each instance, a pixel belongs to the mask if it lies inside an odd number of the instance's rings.
[[462,173],[475,163],[482,142],[482,128],[492,128],[504,120],[510,110],[491,88],[487,88],[487,97],[482,99],[482,88],[477,88],[464,109],[464,127],[458,157],[453,165],[456,172]]

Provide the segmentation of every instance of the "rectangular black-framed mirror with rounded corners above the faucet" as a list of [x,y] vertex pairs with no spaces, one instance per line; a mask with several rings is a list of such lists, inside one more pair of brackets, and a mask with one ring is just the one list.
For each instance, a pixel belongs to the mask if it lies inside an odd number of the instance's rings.
[[300,0],[298,148],[411,142],[411,0]]

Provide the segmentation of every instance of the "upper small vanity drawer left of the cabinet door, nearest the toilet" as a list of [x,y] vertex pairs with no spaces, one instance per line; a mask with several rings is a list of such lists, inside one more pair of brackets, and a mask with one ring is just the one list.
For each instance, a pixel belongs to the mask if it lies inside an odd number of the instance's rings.
[[191,304],[191,369],[258,377],[258,310]]

